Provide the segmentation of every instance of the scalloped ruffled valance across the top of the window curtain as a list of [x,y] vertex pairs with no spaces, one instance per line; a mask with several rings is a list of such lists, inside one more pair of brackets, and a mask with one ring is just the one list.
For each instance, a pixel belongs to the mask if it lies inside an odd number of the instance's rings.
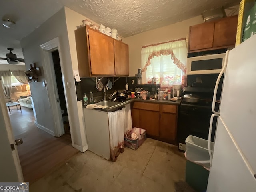
[[142,72],[146,72],[147,67],[151,64],[150,60],[154,56],[171,55],[173,63],[186,74],[187,54],[186,38],[172,40],[154,46],[143,46],[141,50]]

